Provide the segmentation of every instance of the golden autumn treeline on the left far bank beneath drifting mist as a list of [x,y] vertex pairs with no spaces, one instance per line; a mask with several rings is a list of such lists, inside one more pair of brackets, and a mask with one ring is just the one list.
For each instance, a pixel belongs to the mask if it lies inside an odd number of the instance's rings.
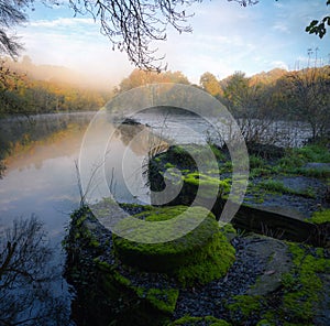
[[111,91],[59,80],[37,80],[0,62],[0,118],[48,112],[98,110]]

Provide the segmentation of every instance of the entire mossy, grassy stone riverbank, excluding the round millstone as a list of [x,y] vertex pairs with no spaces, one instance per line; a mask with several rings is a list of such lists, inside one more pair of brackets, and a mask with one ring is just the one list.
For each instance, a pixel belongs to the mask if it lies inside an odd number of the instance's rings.
[[[212,211],[219,218],[217,211],[230,189],[232,167],[226,153],[217,148],[213,152],[220,171],[220,202]],[[148,263],[132,265],[118,254],[117,236],[91,210],[84,207],[75,211],[65,240],[66,278],[77,294],[74,319],[78,325],[328,325],[329,156],[329,151],[307,146],[278,157],[250,157],[243,204],[233,224],[220,222],[218,230],[233,248],[234,261],[224,275],[206,283],[196,279],[180,282],[166,271],[166,262],[161,272],[145,270],[143,265]],[[208,174],[196,173],[190,161],[189,153],[178,148],[169,148],[151,161],[148,177],[154,191],[162,191],[166,171],[170,170],[167,182],[177,181],[175,169],[182,171],[183,191],[170,203],[174,208],[189,206],[195,187],[202,185],[207,194],[208,183],[216,183],[215,169],[206,166]],[[163,209],[121,207],[138,219],[143,211],[160,209],[156,215],[161,215]],[[111,210],[105,214],[111,216]],[[270,216],[275,228],[267,224]],[[240,224],[240,218],[244,222]],[[280,229],[279,219],[284,220]],[[307,231],[306,238],[288,239],[294,221],[298,226],[294,235],[301,237]],[[260,225],[255,227],[255,222]]]

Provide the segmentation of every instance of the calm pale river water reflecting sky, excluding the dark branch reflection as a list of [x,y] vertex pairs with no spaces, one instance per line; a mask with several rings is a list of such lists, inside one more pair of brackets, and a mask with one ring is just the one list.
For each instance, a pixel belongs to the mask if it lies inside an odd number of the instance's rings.
[[[98,154],[99,143],[105,142],[103,134],[98,129],[95,131],[96,134],[99,132],[98,137],[89,140],[84,138],[88,122],[94,115],[94,112],[47,115],[35,117],[33,122],[25,120],[23,122],[19,120],[1,122],[2,137],[6,134],[9,139],[15,138],[18,133],[28,132],[26,126],[34,123],[34,135],[30,138],[35,142],[7,160],[7,170],[0,180],[0,246],[2,246],[0,252],[6,248],[4,230],[12,226],[13,220],[36,216],[43,222],[47,233],[45,238],[47,246],[54,251],[54,257],[48,263],[54,265],[58,273],[56,280],[50,281],[50,287],[56,297],[64,301],[64,306],[68,311],[67,317],[73,294],[61,275],[65,263],[61,242],[67,232],[69,214],[79,207],[81,193],[79,193],[76,170],[79,154],[82,153],[84,162],[80,162],[80,167],[82,166],[85,171],[89,169],[92,172],[92,169],[102,167],[108,173],[105,177],[107,181],[106,192],[105,189],[99,192],[98,185],[91,186],[92,189],[84,189],[90,196],[89,199],[99,199],[111,193],[120,202],[148,203],[148,188],[143,177],[145,162],[151,149],[155,150],[156,146],[157,150],[164,150],[166,148],[160,138],[154,137],[150,128],[140,124],[122,124],[118,128],[107,121],[106,129],[111,133],[111,141],[106,143],[108,149],[106,152],[109,153],[109,157],[105,162],[106,169],[101,164],[97,167],[95,164],[98,163],[95,157]],[[210,131],[209,126],[191,115],[166,115],[165,119],[162,115],[146,112],[138,116],[136,119],[153,126],[153,131],[158,137],[163,135],[175,143],[205,142],[208,131]],[[65,132],[61,131],[61,126],[64,127]],[[55,131],[56,137],[47,135],[46,127],[50,133]],[[42,135],[42,140],[37,140],[35,133],[38,133],[38,138]],[[82,150],[81,143],[84,143]],[[86,157],[92,160],[89,161]],[[129,165],[130,172],[124,177],[121,172],[118,173],[118,171],[122,171],[123,165]],[[88,177],[80,175],[82,181],[85,178],[85,185]],[[129,181],[128,184],[125,181]],[[34,309],[37,309],[37,306]],[[18,322],[29,314],[31,311],[25,308],[12,320]]]

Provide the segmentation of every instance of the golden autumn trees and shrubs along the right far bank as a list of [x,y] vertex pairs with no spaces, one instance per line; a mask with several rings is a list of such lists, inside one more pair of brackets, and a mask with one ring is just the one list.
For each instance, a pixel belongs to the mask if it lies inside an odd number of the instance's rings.
[[[156,74],[135,69],[114,93],[153,83],[190,84],[180,72]],[[292,72],[276,68],[252,77],[237,72],[222,80],[211,73],[205,73],[199,85],[194,86],[208,91],[227,106],[238,119],[248,142],[260,142],[265,137],[270,141],[272,137],[278,139],[280,135],[274,134],[272,127],[278,120],[306,122],[312,140],[329,137],[329,65]]]

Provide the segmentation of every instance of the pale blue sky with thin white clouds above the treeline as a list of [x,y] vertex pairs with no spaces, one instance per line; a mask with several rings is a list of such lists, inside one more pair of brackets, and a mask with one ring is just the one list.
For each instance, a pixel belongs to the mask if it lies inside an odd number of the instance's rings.
[[[29,23],[16,29],[25,48],[22,56],[29,55],[34,64],[65,66],[112,86],[134,69],[125,53],[112,51],[98,21],[75,17],[65,4],[47,8],[36,2],[34,11],[26,11]],[[329,11],[326,0],[260,0],[245,8],[234,1],[205,0],[187,10],[194,13],[189,20],[193,33],[179,34],[169,28],[167,41],[155,47],[160,56],[166,55],[168,70],[180,70],[195,84],[206,72],[222,79],[238,70],[252,76],[276,67],[301,68],[308,64],[308,48],[318,48],[314,53],[328,64],[330,30],[320,40],[305,28]]]

